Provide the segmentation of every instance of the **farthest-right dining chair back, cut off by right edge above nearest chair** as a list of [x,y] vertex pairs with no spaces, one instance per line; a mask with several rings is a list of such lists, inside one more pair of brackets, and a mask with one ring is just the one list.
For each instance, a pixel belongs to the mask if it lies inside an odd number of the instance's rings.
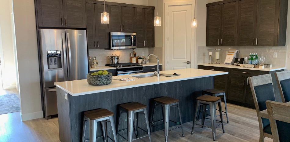
[[290,71],[275,72],[275,77],[282,102],[290,102]]

